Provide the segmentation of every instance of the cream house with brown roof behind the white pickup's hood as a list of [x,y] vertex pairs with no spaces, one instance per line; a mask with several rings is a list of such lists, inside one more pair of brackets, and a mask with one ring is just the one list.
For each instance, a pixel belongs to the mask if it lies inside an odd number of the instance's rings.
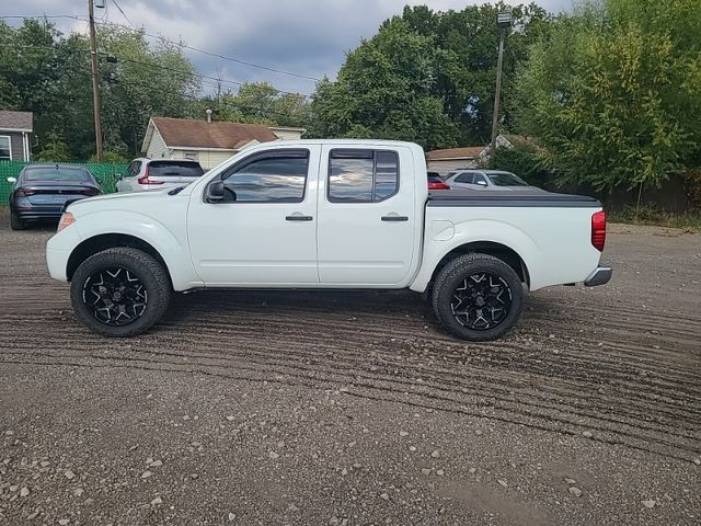
[[299,139],[304,128],[223,123],[191,118],[151,117],[141,152],[151,159],[194,159],[205,170],[248,146]]

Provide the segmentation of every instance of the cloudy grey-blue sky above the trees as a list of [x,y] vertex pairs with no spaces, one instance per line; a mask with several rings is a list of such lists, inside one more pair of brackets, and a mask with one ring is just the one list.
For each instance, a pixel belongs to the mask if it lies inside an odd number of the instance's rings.
[[[335,78],[345,53],[405,4],[434,11],[460,10],[486,0],[95,0],[99,22],[143,27],[147,33],[184,41],[188,46],[258,66],[320,79]],[[116,3],[115,3],[116,1]],[[530,0],[528,0],[530,1]],[[528,3],[507,0],[506,3]],[[536,0],[551,12],[571,9],[572,0]],[[122,11],[124,14],[119,11]],[[87,0],[2,0],[0,15],[87,18]],[[5,19],[12,25],[21,20]],[[85,32],[87,23],[55,19],[64,31]],[[268,81],[284,91],[311,94],[314,80],[238,64],[184,49],[203,75],[237,82]],[[225,87],[233,88],[229,83]]]

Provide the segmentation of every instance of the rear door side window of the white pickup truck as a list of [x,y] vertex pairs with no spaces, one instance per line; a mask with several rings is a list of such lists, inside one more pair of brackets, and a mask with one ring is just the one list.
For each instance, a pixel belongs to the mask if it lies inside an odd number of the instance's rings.
[[399,157],[391,150],[331,150],[329,201],[372,203],[399,188]]

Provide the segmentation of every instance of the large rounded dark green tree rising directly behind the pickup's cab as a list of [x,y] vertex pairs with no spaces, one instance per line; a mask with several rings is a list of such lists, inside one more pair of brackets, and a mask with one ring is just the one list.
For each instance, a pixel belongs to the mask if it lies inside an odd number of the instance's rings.
[[433,93],[441,53],[435,37],[403,19],[387,21],[350,52],[335,82],[317,85],[312,134],[415,140],[426,148],[453,146],[457,132]]

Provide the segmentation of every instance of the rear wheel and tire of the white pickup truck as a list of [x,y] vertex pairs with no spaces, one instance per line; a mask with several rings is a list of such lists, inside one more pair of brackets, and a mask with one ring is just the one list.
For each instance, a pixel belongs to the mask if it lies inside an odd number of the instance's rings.
[[436,276],[433,307],[438,321],[456,336],[496,340],[518,321],[524,286],[514,268],[497,258],[461,255]]

